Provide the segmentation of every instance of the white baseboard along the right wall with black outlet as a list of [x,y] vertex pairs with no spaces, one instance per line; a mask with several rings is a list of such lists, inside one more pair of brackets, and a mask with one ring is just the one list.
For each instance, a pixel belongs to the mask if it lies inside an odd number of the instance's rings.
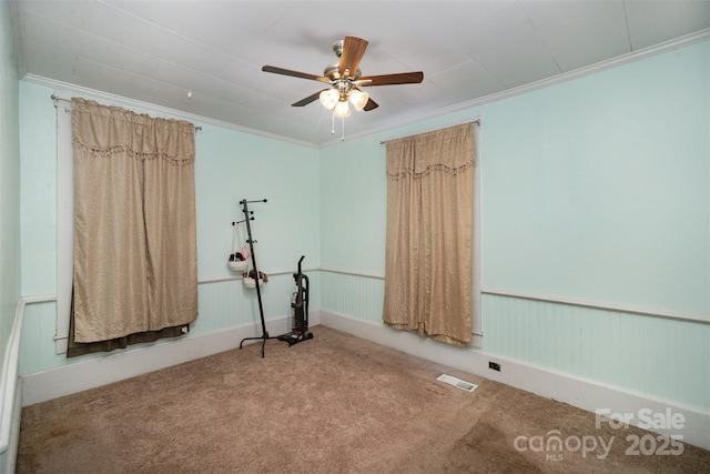
[[[629,414],[631,416],[627,415],[627,418],[631,425],[676,438],[682,436],[684,443],[710,450],[710,436],[708,436],[710,413],[702,409],[658,400],[623,387],[606,385],[520,361],[499,357],[480,350],[455,347],[428,337],[418,337],[405,331],[396,331],[384,324],[355,320],[326,310],[321,310],[320,321],[324,326],[377,344],[505,383],[591,413],[602,413],[604,417],[598,415],[599,423],[607,423],[607,417],[616,418],[618,416],[615,415]],[[489,369],[489,362],[498,363],[500,372]],[[682,415],[684,421],[671,423],[670,418],[678,416],[678,414]],[[653,425],[665,424],[669,427],[645,426],[645,424],[649,424],[650,418],[653,421],[651,423]],[[545,433],[539,434],[544,435]]]

